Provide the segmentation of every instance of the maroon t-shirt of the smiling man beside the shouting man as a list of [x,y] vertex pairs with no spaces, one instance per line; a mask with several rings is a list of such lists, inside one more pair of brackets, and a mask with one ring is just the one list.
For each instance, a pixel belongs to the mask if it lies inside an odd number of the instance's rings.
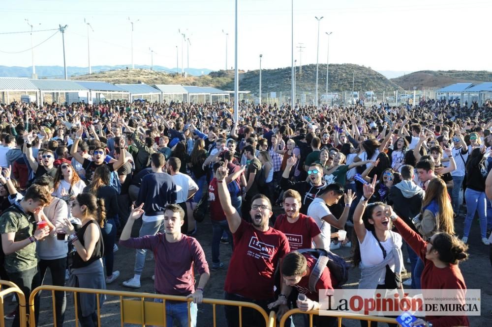
[[299,214],[299,219],[293,223],[287,220],[286,214],[280,215],[275,220],[274,228],[287,236],[291,250],[311,248],[313,237],[321,234],[316,221],[304,214]]

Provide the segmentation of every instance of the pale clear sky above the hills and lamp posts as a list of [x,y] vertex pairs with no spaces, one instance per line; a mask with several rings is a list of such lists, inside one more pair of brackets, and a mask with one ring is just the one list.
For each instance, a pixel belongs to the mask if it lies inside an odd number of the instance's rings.
[[[258,69],[291,64],[290,0],[239,0],[239,67]],[[302,63],[316,62],[317,21],[319,62],[355,63],[376,70],[492,70],[488,20],[492,1],[484,0],[294,0],[294,43],[303,43]],[[87,26],[91,23],[91,64],[131,62],[128,16],[134,25],[134,63],[176,67],[187,30],[189,65],[225,67],[225,35],[229,33],[228,67],[234,65],[234,0],[3,0],[0,33],[57,28],[67,24],[66,61],[87,66]],[[137,20],[139,20],[137,22]],[[41,23],[41,25],[38,25]],[[469,26],[468,26],[469,25]],[[478,32],[477,32],[478,31]],[[483,31],[483,32],[481,32]],[[54,31],[36,32],[34,44]],[[0,34],[0,64],[31,66],[29,33]],[[296,50],[298,50],[296,48]],[[184,50],[186,51],[186,49]],[[62,36],[57,34],[34,49],[35,65],[63,65]],[[300,60],[299,52],[295,58]],[[186,66],[186,53],[184,53]]]

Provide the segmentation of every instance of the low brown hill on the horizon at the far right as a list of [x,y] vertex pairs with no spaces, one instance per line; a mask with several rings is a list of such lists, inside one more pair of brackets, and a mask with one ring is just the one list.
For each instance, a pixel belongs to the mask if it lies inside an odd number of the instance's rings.
[[453,83],[480,83],[492,81],[492,72],[485,70],[422,70],[400,76],[390,81],[400,85],[402,88],[409,90],[413,87],[418,89],[423,87],[443,87]]

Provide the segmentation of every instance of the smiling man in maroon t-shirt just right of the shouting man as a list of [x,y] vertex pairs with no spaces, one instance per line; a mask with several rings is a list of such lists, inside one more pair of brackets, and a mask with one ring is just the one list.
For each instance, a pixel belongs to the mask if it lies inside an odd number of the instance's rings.
[[291,250],[300,248],[323,248],[323,239],[316,221],[313,218],[301,214],[301,194],[295,190],[287,190],[283,193],[283,209],[285,214],[279,215],[275,220],[274,228],[287,236]]

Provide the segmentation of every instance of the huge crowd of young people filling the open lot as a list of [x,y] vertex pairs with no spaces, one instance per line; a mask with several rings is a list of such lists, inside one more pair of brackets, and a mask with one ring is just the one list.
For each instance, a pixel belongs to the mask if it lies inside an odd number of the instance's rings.
[[[0,277],[26,299],[47,269],[53,285],[105,289],[120,277],[120,245],[135,248],[123,286],[138,289],[152,250],[155,292],[192,299],[190,322],[186,302],[166,301],[169,326],[196,326],[210,275],[225,268],[226,300],[278,317],[319,309],[319,293],[344,280],[317,263],[337,261],[341,247],[353,250],[361,289],[465,290],[459,262],[471,235],[492,241],[490,107],[243,102],[235,121],[226,103],[1,105]],[[210,264],[194,237],[204,212]],[[233,248],[230,258],[221,259],[221,244]],[[411,278],[401,281],[406,260]],[[96,296],[77,297],[80,324],[97,326]],[[55,292],[57,326],[65,308],[64,292]],[[226,306],[225,317],[239,326],[237,307]],[[264,325],[254,310],[241,317],[243,326]],[[19,326],[18,311],[6,318]],[[418,323],[469,326],[465,316]],[[319,316],[314,324],[336,321]]]

